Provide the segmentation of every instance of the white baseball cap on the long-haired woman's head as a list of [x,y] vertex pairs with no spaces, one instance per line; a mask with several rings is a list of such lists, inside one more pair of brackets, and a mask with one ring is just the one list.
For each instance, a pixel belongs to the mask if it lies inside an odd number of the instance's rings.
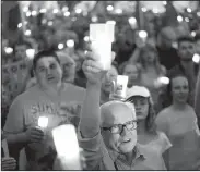
[[132,96],[150,97],[151,94],[146,87],[143,86],[133,86],[127,90],[127,99]]

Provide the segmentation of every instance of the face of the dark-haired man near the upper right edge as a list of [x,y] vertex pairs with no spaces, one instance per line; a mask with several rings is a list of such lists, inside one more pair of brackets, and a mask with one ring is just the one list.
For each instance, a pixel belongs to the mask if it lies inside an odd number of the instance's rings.
[[178,46],[178,54],[181,60],[191,60],[195,54],[195,45],[190,41],[181,41]]

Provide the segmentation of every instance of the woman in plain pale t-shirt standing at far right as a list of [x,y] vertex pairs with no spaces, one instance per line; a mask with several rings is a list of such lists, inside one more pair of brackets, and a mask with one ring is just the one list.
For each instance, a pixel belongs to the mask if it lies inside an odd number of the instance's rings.
[[184,75],[173,76],[167,90],[172,103],[161,111],[155,123],[173,144],[169,170],[200,170],[200,132],[195,110],[187,103],[188,79]]

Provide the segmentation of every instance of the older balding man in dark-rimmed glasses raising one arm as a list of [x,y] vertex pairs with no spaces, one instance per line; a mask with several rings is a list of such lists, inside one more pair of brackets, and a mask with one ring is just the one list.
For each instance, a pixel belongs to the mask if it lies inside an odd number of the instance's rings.
[[141,147],[137,139],[137,116],[129,102],[109,101],[99,108],[102,78],[106,72],[89,52],[83,63],[86,95],[79,124],[80,147],[85,150],[87,170],[165,170],[160,156]]

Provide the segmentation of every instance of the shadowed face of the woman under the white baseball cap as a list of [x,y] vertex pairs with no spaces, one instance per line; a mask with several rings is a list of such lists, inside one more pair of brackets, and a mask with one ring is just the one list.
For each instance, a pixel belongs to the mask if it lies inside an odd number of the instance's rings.
[[138,121],[145,120],[149,114],[149,107],[150,107],[149,99],[145,97],[136,96],[132,98],[132,102],[136,108],[137,120]]

